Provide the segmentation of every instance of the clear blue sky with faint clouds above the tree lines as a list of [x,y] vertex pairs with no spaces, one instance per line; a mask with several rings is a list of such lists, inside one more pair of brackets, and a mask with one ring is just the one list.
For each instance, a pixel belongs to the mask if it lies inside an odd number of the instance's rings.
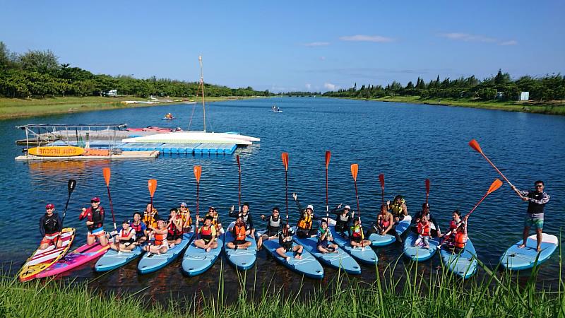
[[[397,4],[398,3],[398,4]],[[0,41],[93,73],[272,92],[565,73],[565,1],[1,1]]]

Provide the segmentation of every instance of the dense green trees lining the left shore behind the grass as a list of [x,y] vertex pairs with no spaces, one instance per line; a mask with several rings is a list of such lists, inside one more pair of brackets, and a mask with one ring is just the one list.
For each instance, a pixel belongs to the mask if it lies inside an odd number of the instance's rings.
[[[102,96],[109,90],[119,95],[141,98],[149,95],[194,97],[198,82],[176,81],[168,78],[147,79],[132,76],[95,75],[70,64],[60,64],[50,50],[30,50],[23,54],[10,52],[0,42],[0,96],[29,98],[45,96]],[[251,87],[228,88],[204,84],[206,96],[271,96],[268,90]]]

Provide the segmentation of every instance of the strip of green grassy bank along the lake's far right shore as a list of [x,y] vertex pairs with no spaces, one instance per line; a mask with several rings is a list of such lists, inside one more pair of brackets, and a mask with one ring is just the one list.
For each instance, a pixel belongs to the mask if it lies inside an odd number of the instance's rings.
[[565,115],[565,101],[557,102],[515,102],[494,100],[470,100],[454,98],[420,98],[420,96],[386,96],[371,100],[381,102],[408,102],[411,104],[428,104],[442,106],[484,108],[487,110],[506,110],[509,112],[533,112],[538,114]]

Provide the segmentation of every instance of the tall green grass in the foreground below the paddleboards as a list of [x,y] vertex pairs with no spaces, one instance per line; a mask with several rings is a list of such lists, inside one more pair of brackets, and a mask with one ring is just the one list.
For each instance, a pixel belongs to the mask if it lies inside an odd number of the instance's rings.
[[[259,291],[245,290],[241,288],[246,285],[245,278],[240,278],[239,297],[230,304],[225,302],[222,277],[218,280],[217,295],[187,290],[180,299],[172,295],[165,304],[145,302],[147,298],[141,298],[141,293],[116,297],[90,290],[85,284],[22,284],[4,277],[0,279],[0,316],[43,317],[49,313],[55,317],[160,318],[565,317],[565,285],[561,279],[558,290],[540,290],[536,288],[536,270],[524,285],[511,273],[483,269],[488,275],[481,280],[461,281],[444,270],[424,275],[417,266],[388,266],[379,269],[381,275],[376,276],[374,283],[338,275],[309,295],[300,290],[285,294],[273,285]],[[403,271],[400,278],[393,278],[396,270]],[[182,303],[187,305],[179,305]]]

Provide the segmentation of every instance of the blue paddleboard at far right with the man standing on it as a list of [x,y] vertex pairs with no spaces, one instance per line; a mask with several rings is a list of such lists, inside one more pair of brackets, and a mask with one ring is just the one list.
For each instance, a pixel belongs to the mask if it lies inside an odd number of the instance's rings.
[[539,253],[540,256],[538,257],[536,235],[528,237],[525,247],[518,248],[522,242],[523,240],[520,240],[520,242],[506,249],[506,252],[500,258],[502,266],[506,269],[520,271],[522,269],[531,269],[536,264],[540,265],[552,256],[555,249],[557,249],[557,245],[559,245],[559,240],[557,240],[555,235],[542,233],[542,252]]

